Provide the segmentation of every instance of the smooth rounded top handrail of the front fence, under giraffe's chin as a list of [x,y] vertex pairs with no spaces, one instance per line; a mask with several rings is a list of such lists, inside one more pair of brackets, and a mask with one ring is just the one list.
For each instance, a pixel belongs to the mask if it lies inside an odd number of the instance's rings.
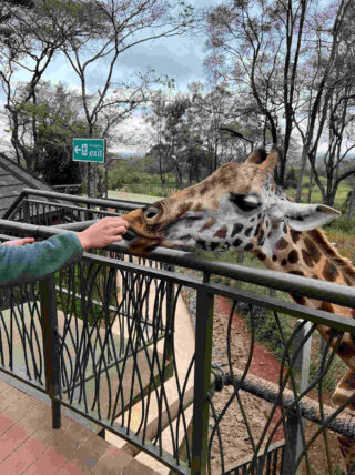
[[[59,228],[37,226],[33,224],[17,223],[8,220],[0,220],[0,232],[28,233],[39,238],[50,238],[54,234],[64,232]],[[113,251],[130,254],[126,244],[116,243],[110,246]],[[100,257],[97,257],[98,260]],[[237,264],[221,263],[196,259],[192,254],[178,250],[162,249],[155,250],[149,259],[166,264],[179,265],[193,269],[210,274],[222,275],[242,282],[248,282],[256,285],[276,289],[295,295],[304,295],[326,302],[337,303],[345,306],[355,307],[355,289],[333,284],[325,281],[318,281],[300,275],[285,274],[276,271],[246,267]],[[112,260],[112,262],[114,262]]]

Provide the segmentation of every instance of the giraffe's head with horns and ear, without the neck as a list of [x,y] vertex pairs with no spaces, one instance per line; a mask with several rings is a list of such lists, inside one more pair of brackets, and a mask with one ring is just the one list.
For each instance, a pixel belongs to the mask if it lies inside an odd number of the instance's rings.
[[201,183],[124,215],[130,250],[146,255],[156,246],[230,247],[271,255],[284,225],[295,231],[321,226],[339,213],[323,204],[297,204],[276,190],[277,151],[262,151],[244,163],[222,165]]

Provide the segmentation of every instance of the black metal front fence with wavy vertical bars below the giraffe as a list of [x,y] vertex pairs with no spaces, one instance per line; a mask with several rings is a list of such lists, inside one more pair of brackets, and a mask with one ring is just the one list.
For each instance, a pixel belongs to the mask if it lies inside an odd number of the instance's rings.
[[[136,260],[116,244],[1,292],[1,371],[48,392],[54,426],[64,405],[182,474],[341,473],[336,434],[355,441],[343,412],[353,397],[334,408],[331,394],[346,372],[335,351],[355,322],[286,294],[355,307],[353,289],[180,251]],[[182,295],[195,321],[185,366]],[[333,329],[333,347],[321,344],[320,324]],[[304,382],[297,362],[311,338]]]

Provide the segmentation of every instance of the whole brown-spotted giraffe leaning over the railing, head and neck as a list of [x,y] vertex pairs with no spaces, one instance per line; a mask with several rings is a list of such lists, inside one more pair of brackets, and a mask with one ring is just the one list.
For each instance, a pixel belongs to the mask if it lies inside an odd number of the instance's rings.
[[[148,255],[156,246],[200,246],[205,250],[250,251],[275,271],[353,286],[355,269],[328,243],[318,226],[339,212],[323,204],[288,200],[274,182],[278,152],[254,151],[244,163],[230,162],[201,183],[123,218],[130,223],[123,236],[132,253]],[[355,317],[353,309],[292,295],[298,303]],[[332,330],[318,325],[334,345]],[[355,342],[345,333],[337,354],[348,366],[333,404],[339,406],[355,392]],[[355,415],[355,402],[347,406]],[[347,466],[355,462],[355,444],[338,437]]]

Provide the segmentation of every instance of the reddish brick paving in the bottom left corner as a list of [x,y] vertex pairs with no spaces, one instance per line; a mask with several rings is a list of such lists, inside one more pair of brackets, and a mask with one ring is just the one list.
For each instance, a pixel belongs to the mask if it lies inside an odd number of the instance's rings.
[[156,472],[51,408],[0,381],[1,475],[154,475]]

